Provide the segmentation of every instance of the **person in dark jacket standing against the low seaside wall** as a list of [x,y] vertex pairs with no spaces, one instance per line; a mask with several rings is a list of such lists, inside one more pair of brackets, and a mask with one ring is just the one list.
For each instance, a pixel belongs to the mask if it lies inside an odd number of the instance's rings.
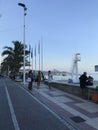
[[84,72],[80,77],[80,88],[81,88],[81,96],[83,98],[86,98],[86,94],[87,94],[87,81],[88,81],[88,77],[87,77],[87,72]]

